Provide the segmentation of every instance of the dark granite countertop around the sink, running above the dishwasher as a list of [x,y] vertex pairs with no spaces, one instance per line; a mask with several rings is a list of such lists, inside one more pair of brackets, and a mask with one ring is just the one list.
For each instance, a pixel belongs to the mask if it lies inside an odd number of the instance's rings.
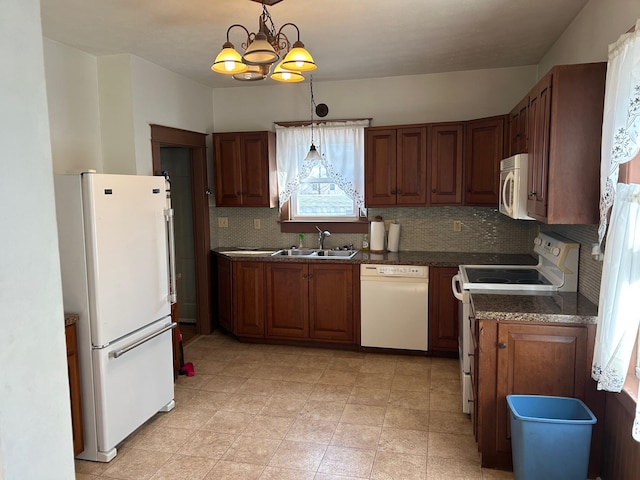
[[[537,260],[528,254],[470,253],[470,252],[358,252],[349,260],[329,260],[324,258],[272,257],[270,253],[278,248],[260,248],[255,253],[251,250],[237,248],[216,248],[214,253],[224,255],[233,251],[233,255],[225,255],[233,261],[260,260],[263,262],[333,262],[343,264],[382,263],[389,265],[427,265],[430,267],[457,267],[458,265],[535,265]],[[246,253],[245,253],[246,252]]]

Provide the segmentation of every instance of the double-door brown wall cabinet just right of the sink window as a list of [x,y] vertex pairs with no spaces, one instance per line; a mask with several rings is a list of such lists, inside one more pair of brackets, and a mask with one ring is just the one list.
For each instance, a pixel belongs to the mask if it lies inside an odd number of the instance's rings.
[[366,206],[426,205],[426,127],[374,127],[365,132]]

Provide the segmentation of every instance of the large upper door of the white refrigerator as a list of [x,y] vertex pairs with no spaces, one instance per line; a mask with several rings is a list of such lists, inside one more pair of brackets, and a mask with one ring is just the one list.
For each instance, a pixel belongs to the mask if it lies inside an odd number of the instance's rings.
[[163,177],[82,175],[91,342],[170,314]]

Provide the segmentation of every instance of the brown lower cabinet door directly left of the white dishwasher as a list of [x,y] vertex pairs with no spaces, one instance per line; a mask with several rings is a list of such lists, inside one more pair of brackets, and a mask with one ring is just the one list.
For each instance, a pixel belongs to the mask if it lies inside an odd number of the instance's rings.
[[309,336],[353,342],[353,273],[351,265],[309,265]]

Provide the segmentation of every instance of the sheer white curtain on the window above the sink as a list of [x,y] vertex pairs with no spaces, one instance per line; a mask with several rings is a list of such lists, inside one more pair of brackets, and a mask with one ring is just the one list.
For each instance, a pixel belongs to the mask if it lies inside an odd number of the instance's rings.
[[[368,120],[314,125],[314,141],[327,169],[356,206],[364,210],[364,129]],[[311,146],[311,126],[276,125],[276,164],[280,207],[300,188],[314,164],[304,159]],[[306,164],[305,164],[306,163]]]

